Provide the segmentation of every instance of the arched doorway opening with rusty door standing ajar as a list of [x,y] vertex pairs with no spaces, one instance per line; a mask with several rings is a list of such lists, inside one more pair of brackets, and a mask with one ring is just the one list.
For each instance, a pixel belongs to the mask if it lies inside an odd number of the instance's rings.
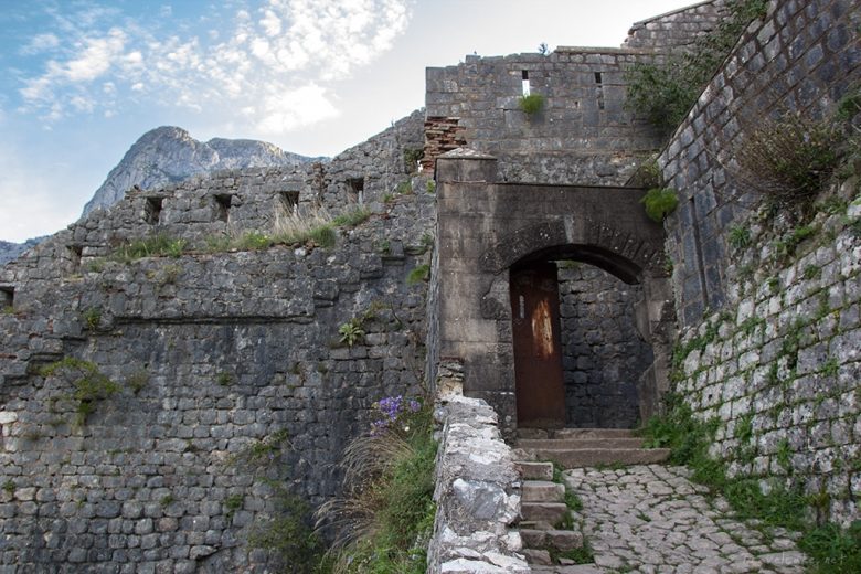
[[510,267],[518,426],[637,426],[653,361],[636,319],[640,276],[618,255],[575,245],[544,247]]

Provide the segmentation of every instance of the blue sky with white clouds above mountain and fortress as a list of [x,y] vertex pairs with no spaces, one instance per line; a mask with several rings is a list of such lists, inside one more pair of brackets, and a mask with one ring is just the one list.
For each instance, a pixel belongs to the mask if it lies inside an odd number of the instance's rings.
[[425,66],[618,46],[690,0],[0,0],[0,240],[74,222],[145,131],[332,156],[424,105]]

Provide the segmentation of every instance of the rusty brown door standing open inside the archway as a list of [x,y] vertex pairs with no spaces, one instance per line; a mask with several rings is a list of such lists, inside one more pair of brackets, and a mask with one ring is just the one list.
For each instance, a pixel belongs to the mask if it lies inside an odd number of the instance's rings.
[[518,426],[565,426],[556,265],[511,270]]

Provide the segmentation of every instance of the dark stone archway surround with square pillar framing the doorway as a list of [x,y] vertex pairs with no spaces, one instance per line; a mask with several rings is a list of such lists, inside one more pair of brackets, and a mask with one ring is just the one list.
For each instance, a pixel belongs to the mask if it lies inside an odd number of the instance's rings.
[[440,157],[436,170],[436,347],[463,362],[464,393],[487,400],[507,434],[517,428],[509,269],[552,254],[642,286],[636,323],[655,354],[640,385],[648,417],[667,381],[672,304],[645,190],[499,183],[496,159],[472,151]]

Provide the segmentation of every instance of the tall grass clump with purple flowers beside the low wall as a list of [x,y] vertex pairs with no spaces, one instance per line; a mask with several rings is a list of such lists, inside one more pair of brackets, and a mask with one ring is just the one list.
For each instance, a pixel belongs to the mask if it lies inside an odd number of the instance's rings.
[[[410,406],[408,406],[410,405]],[[436,512],[432,410],[401,397],[378,403],[370,436],[344,453],[347,495],[317,512],[337,530],[334,574],[423,574]]]

